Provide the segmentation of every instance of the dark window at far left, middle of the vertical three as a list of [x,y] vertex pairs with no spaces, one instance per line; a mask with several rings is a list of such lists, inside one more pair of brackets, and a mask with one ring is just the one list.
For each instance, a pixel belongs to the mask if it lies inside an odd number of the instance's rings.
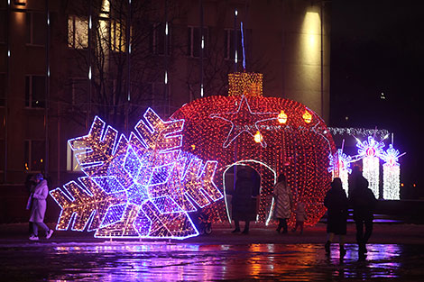
[[45,76],[25,77],[25,106],[30,108],[43,108],[46,95]]

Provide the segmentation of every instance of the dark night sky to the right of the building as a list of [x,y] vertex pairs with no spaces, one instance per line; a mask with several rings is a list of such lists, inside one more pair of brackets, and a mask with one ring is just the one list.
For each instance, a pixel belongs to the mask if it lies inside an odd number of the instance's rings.
[[424,3],[336,0],[331,5],[330,125],[394,132],[395,147],[407,151],[401,181],[424,190],[424,103],[419,101]]

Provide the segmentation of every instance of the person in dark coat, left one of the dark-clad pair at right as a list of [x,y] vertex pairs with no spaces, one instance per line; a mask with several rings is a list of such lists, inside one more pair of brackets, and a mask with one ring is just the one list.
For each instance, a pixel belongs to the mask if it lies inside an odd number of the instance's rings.
[[340,258],[346,255],[345,235],[348,200],[346,192],[342,186],[342,180],[339,177],[333,179],[331,188],[324,199],[324,205],[327,207],[327,242],[326,252],[330,252],[330,244],[334,235],[339,235]]

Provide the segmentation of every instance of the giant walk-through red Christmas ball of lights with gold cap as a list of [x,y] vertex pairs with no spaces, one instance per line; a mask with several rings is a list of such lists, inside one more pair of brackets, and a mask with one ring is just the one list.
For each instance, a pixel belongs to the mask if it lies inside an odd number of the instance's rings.
[[[225,196],[229,168],[240,165],[258,171],[260,223],[271,219],[272,186],[278,175],[284,173],[295,202],[301,200],[306,204],[306,224],[318,223],[326,212],[323,200],[331,182],[327,156],[336,151],[332,136],[324,121],[305,105],[258,94],[257,86],[262,85],[258,77],[232,74],[228,96],[200,98],[172,114],[172,120],[186,121],[182,150],[199,159],[217,160],[214,183]],[[306,125],[305,113],[309,114]],[[208,205],[203,211],[212,222],[227,222],[227,208],[224,197],[224,201]],[[294,214],[290,223],[293,221]]]

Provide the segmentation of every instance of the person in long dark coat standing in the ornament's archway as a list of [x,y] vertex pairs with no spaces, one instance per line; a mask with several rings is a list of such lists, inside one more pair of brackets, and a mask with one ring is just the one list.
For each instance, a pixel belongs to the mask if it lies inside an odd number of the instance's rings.
[[240,221],[244,221],[243,233],[249,233],[250,222],[256,219],[256,205],[253,197],[255,186],[256,183],[253,181],[249,170],[242,168],[237,172],[235,193],[232,198],[232,214],[235,221],[235,230],[233,232],[240,232]]

